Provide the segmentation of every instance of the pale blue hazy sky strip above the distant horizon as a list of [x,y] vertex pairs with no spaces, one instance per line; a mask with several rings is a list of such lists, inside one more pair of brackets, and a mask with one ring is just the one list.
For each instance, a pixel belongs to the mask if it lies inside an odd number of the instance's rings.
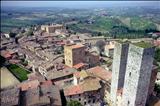
[[16,7],[68,7],[68,8],[86,8],[86,7],[104,7],[119,5],[147,5],[160,6],[160,1],[1,1],[1,6]]

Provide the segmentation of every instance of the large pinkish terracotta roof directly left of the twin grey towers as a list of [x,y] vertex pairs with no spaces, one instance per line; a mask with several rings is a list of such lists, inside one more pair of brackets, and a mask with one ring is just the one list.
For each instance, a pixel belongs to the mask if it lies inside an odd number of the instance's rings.
[[110,81],[112,77],[112,73],[110,71],[107,71],[100,66],[90,68],[88,71],[106,81]]

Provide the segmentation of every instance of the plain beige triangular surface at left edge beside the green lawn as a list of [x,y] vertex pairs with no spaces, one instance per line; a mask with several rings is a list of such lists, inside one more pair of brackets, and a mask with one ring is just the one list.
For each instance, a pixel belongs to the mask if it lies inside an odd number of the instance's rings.
[[5,67],[1,68],[1,89],[20,83],[18,79]]

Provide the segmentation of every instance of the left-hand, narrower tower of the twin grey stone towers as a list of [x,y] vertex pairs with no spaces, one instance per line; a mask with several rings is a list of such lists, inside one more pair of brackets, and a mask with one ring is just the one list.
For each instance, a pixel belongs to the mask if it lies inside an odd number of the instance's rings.
[[112,81],[111,81],[111,101],[112,105],[116,103],[117,90],[124,85],[126,73],[126,64],[128,57],[129,44],[125,42],[116,42],[113,56]]

